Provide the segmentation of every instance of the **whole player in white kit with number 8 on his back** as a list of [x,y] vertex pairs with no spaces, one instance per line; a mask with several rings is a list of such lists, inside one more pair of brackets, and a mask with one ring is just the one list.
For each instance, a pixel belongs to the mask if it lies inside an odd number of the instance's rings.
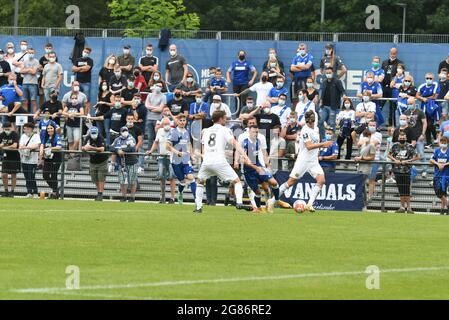
[[215,111],[212,114],[214,125],[203,132],[203,163],[198,173],[196,189],[195,213],[202,213],[204,183],[210,177],[217,176],[222,181],[231,181],[235,188],[236,207],[238,210],[246,209],[243,206],[243,185],[237,173],[226,160],[226,145],[230,144],[237,149],[244,161],[248,161],[245,151],[235,140],[230,129],[226,128],[226,112]]

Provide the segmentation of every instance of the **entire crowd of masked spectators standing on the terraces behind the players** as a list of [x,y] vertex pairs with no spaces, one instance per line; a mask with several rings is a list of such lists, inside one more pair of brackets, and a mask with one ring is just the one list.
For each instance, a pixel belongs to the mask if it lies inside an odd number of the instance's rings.
[[[13,43],[6,45],[6,51],[0,49],[0,148],[5,196],[14,195],[20,171],[27,180],[28,196],[36,196],[33,179],[42,167],[53,191],[51,196],[58,198],[57,173],[62,160],[57,151],[65,148],[66,141],[67,149],[73,152],[82,149],[113,153],[111,159],[91,154],[97,200],[102,200],[107,171],[116,171],[124,198],[130,193],[128,199],[133,201],[138,175],[145,170],[146,152],[159,156],[159,178],[171,182],[170,202],[174,202],[176,175],[168,158],[172,151],[167,148],[172,129],[179,119],[185,119],[192,140],[198,142],[201,130],[212,125],[211,115],[217,110],[227,114],[233,129],[245,130],[253,125],[259,128],[274,172],[288,170],[282,159],[295,159],[304,114],[315,112],[321,138],[334,142],[320,152],[325,170],[334,172],[336,164],[332,161],[343,157],[360,163],[358,170],[369,181],[369,202],[379,171],[378,164],[369,162],[393,161],[387,181],[400,186],[401,212],[411,212],[410,190],[404,185],[414,171],[412,162],[437,162],[438,169],[443,160],[436,156],[447,150],[444,141],[449,138],[449,56],[440,63],[436,75],[429,72],[425,79],[415,79],[407,71],[407,62],[400,60],[400,53],[392,48],[387,59],[372,58],[357,97],[349,98],[341,81],[347,68],[332,44],[327,44],[323,56],[316,59],[301,43],[290,64],[281,61],[275,49],[269,49],[259,69],[250,62],[250,53],[238,51],[227,70],[218,66],[209,69],[205,88],[200,87],[189,71],[186,57],[174,44],[169,47],[164,72],[151,44],[138,59],[126,45],[123,54],[111,54],[104,62],[94,61],[93,49],[86,47],[73,60],[70,72],[75,81],[70,91],[61,96],[64,70],[58,63],[58,50],[50,43],[44,50],[38,60],[37,50],[27,41],[21,41],[19,49]],[[103,65],[98,83],[92,82],[94,63]],[[320,83],[318,73],[322,74]],[[288,78],[291,87],[286,85]],[[98,96],[91,99],[93,86],[98,86]],[[236,114],[225,103],[224,95],[231,94],[241,101]],[[23,128],[16,126],[18,114],[29,115]],[[390,137],[383,137],[384,129]],[[21,137],[19,132],[23,133]],[[427,159],[425,151],[432,148],[435,155]],[[125,157],[137,152],[141,155]],[[197,158],[192,157],[192,161]],[[417,169],[427,177],[428,167]],[[446,177],[445,170],[440,170],[441,174],[435,171],[434,177]],[[446,181],[443,178],[434,185],[446,186],[441,180]],[[208,202],[213,205],[217,181],[207,183]],[[445,197],[441,192],[437,195]],[[447,201],[443,203],[446,209]]]

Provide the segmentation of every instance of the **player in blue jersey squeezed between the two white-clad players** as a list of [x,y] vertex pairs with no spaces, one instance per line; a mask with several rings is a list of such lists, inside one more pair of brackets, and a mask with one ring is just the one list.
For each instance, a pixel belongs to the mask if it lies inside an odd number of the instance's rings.
[[253,212],[261,212],[261,190],[259,184],[268,183],[274,198],[268,200],[267,210],[272,213],[276,201],[279,201],[279,184],[265,165],[261,141],[258,139],[258,135],[259,129],[257,126],[252,126],[249,128],[248,137],[241,143],[243,150],[248,156],[248,159],[244,162],[243,171],[246,183],[255,193],[254,200],[257,208]]

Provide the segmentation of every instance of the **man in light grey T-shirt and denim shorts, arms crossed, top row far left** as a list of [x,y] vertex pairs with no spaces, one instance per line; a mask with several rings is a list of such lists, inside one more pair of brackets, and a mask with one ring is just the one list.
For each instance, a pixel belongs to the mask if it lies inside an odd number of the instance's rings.
[[34,49],[28,49],[28,54],[22,62],[20,75],[23,77],[23,108],[29,113],[34,113],[37,110],[39,66],[39,61],[35,58]]

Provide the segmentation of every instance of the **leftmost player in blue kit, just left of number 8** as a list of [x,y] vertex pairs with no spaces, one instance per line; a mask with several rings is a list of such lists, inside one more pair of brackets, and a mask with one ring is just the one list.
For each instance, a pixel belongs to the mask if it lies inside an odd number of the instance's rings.
[[193,196],[196,195],[196,182],[193,176],[192,163],[190,162],[192,154],[192,145],[190,143],[190,133],[186,129],[187,118],[184,114],[177,117],[177,126],[172,129],[167,139],[167,150],[172,153],[171,164],[173,172],[179,181],[178,184],[178,204],[184,202],[184,189],[190,184]]

